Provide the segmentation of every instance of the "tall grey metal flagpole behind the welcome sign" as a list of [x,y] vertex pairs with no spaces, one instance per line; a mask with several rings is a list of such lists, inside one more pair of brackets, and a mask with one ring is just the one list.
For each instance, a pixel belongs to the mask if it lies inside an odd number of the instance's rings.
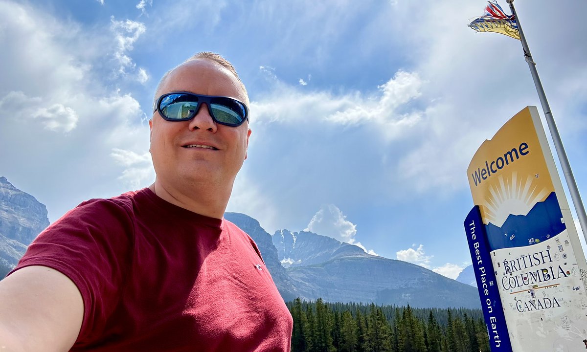
[[552,141],[554,142],[556,154],[558,155],[558,159],[561,162],[562,171],[565,175],[566,184],[569,187],[569,192],[571,193],[573,205],[575,205],[575,211],[577,212],[577,216],[579,218],[579,224],[581,224],[583,237],[587,242],[587,215],[585,215],[585,207],[583,207],[583,202],[581,201],[581,194],[579,194],[579,188],[577,188],[575,177],[573,176],[573,172],[571,171],[571,164],[569,164],[569,159],[566,157],[566,152],[565,148],[562,145],[561,136],[558,133],[558,128],[556,128],[554,117],[552,117],[551,109],[548,104],[548,100],[546,100],[546,94],[544,93],[544,88],[542,88],[542,83],[540,82],[540,77],[538,77],[536,63],[534,62],[534,60],[532,60],[532,55],[530,53],[530,49],[528,48],[528,42],[526,41],[526,37],[524,36],[524,32],[522,31],[522,26],[519,23],[518,14],[515,12],[514,0],[506,1],[508,2],[508,4],[510,4],[512,15],[514,15],[515,21],[518,25],[519,36],[522,41],[522,48],[524,49],[524,58],[528,63],[528,67],[530,67],[532,79],[534,79],[534,85],[536,86],[538,97],[540,98],[540,103],[542,104],[542,110],[544,110],[546,123],[548,124],[548,129],[551,132]]

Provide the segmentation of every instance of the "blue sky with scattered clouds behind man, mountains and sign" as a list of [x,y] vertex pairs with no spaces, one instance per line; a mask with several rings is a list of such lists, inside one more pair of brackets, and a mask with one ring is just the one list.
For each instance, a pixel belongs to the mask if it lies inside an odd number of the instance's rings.
[[[147,187],[158,79],[214,51],[251,98],[228,211],[456,277],[471,261],[467,165],[511,116],[540,106],[520,43],[467,28],[485,4],[0,0],[0,175],[50,221]],[[585,192],[587,3],[514,4]]]

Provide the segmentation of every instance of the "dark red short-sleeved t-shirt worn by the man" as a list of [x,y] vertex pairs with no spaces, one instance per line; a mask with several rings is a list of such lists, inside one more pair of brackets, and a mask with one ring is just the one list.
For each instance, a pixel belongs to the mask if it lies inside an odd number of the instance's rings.
[[252,239],[149,188],[83,202],[29,246],[82,293],[71,351],[289,351],[292,317]]

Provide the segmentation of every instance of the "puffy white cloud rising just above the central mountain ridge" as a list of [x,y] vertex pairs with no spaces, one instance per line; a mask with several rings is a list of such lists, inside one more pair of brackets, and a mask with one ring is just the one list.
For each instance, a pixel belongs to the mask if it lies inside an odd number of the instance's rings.
[[377,255],[372,249],[367,250],[360,242],[356,241],[357,225],[346,219],[346,215],[334,204],[323,205],[321,209],[312,216],[304,231],[318,233],[318,235],[329,236],[340,242],[346,242],[358,246],[370,255]]

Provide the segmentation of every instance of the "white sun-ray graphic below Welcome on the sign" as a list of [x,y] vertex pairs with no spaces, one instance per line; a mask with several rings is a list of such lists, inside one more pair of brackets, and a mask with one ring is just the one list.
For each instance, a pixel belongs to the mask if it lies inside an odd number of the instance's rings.
[[539,175],[518,178],[518,172],[511,177],[498,177],[498,182],[488,188],[485,198],[484,220],[501,227],[510,215],[527,215],[538,202],[550,194],[548,188],[539,185]]

